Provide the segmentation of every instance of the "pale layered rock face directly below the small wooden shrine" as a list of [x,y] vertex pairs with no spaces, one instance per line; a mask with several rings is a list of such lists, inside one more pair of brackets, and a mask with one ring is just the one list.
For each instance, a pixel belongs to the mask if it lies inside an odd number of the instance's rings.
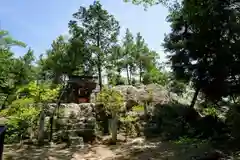
[[56,120],[55,139],[76,140],[82,137],[84,142],[95,139],[96,115],[93,103],[61,104]]

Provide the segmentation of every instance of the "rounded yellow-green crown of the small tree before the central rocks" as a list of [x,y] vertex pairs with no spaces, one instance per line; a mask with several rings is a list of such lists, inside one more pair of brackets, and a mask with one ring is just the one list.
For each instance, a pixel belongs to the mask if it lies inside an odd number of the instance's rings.
[[96,101],[103,104],[106,111],[112,116],[119,114],[124,104],[123,95],[119,91],[109,88],[103,88],[97,95]]

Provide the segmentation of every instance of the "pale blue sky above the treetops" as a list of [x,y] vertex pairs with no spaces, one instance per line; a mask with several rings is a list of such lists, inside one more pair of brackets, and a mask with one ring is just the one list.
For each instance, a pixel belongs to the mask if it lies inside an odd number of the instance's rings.
[[[1,0],[1,29],[12,37],[25,42],[34,50],[36,57],[44,53],[60,34],[68,33],[68,22],[79,6],[88,6],[93,0]],[[165,19],[167,9],[161,5],[147,11],[141,6],[124,3],[123,0],[101,0],[104,9],[120,22],[121,35],[129,28],[133,34],[141,32],[149,47],[163,58],[164,33],[170,31]],[[14,48],[16,56],[26,49]]]

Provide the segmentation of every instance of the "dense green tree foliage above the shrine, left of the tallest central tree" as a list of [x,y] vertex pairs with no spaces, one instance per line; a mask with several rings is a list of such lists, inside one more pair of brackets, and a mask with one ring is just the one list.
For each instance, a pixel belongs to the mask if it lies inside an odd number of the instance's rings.
[[[69,26],[71,38],[67,40],[62,35],[53,41],[51,48],[46,51],[46,56],[38,62],[41,74],[51,77],[55,84],[60,84],[60,76],[63,74],[85,74],[92,72],[89,65],[90,55],[84,45],[83,33],[74,26]],[[73,31],[74,30],[74,31]],[[77,32],[77,33],[76,33]],[[87,69],[87,70],[86,70]]]

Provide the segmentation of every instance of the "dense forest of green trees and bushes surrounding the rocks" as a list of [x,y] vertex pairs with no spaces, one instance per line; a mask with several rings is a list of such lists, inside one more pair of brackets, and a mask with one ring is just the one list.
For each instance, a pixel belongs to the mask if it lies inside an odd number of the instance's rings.
[[[161,127],[158,129],[167,132],[168,140],[190,139],[190,144],[193,144],[196,139],[201,139],[201,142],[207,140],[217,146],[231,140],[231,147],[239,147],[239,2],[134,0],[132,3],[144,5],[146,9],[161,3],[169,9],[166,20],[171,31],[165,35],[162,44],[166,63],[160,63],[160,54],[148,47],[141,33],[133,35],[126,29],[120,39],[121,26],[103,8],[101,1],[87,8],[80,7],[73,13],[68,23],[68,38],[59,35],[40,57],[35,57],[34,50],[30,48],[23,56],[16,57],[11,48],[26,47],[27,44],[12,38],[6,30],[0,31],[0,115],[7,117],[6,143],[22,141],[28,134],[31,139],[31,132],[38,130],[40,144],[44,139],[41,134],[44,121],[42,123],[41,118],[48,103],[58,102],[64,85],[62,76],[85,75],[98,77],[100,93],[96,103],[103,104],[113,126],[117,125],[114,120],[118,116],[124,119],[125,128],[129,128],[129,122],[134,118],[122,116],[120,108],[124,99],[120,92],[109,86],[157,84],[178,97],[183,97],[191,89],[194,93],[190,95],[188,106],[172,101],[162,105],[165,109],[160,107],[160,112],[154,110],[153,114],[159,113],[154,116],[147,115],[151,98],[134,107],[144,111],[145,122],[160,117],[158,125]],[[166,66],[171,70],[165,70]],[[105,77],[107,84],[103,83]],[[180,107],[180,112],[186,110],[184,116],[173,111],[179,106],[184,106]],[[222,106],[228,106],[227,120],[220,118]],[[52,141],[54,114],[50,116],[49,141]],[[170,124],[165,122],[167,120]],[[112,141],[115,142],[116,132],[112,131]]]

